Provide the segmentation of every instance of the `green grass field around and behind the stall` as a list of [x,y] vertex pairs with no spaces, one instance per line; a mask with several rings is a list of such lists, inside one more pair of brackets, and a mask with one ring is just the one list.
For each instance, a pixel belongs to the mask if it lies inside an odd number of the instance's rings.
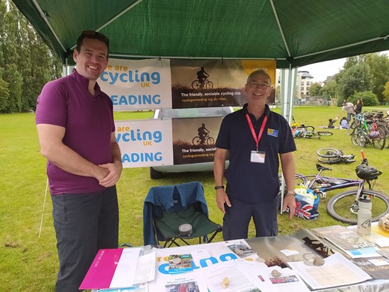
[[[363,108],[366,110],[366,108]],[[386,108],[387,110],[388,108]],[[275,109],[274,111],[278,111]],[[300,124],[327,125],[328,118],[334,118],[340,108],[316,107],[295,108],[293,116]],[[152,112],[115,113],[116,120],[150,118]],[[1,291],[54,291],[57,274],[57,249],[55,231],[52,226],[51,200],[47,196],[45,211],[46,174],[45,159],[40,155],[38,137],[30,113],[0,115],[0,283]],[[360,148],[351,144],[345,130],[332,130],[331,137],[321,140],[296,140],[296,172],[315,174],[316,151],[322,147],[336,147],[345,154],[356,154],[360,160]],[[389,193],[389,149],[365,149],[371,165],[383,174],[375,189]],[[356,178],[353,164],[332,165],[333,176]],[[210,218],[222,223],[222,213],[215,203],[214,181],[211,172],[191,174],[167,174],[164,179],[152,180],[148,168],[123,169],[118,181],[120,204],[120,242],[142,245],[142,208],[147,191],[151,186],[180,184],[187,181],[201,181],[205,188]],[[325,206],[334,193],[327,193],[327,199],[320,202],[317,220],[302,220],[279,215],[279,235],[292,234],[301,228],[317,228],[339,224],[329,218]],[[373,207],[374,208],[374,207]],[[43,228],[40,237],[40,218],[43,213]],[[249,236],[254,236],[250,225]],[[222,240],[218,236],[216,240]]]

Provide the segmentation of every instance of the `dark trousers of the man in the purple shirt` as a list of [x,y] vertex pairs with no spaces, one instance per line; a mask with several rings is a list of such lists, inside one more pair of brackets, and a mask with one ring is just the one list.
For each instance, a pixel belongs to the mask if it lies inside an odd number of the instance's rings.
[[60,259],[55,291],[79,291],[98,249],[118,247],[116,188],[52,196],[52,218]]

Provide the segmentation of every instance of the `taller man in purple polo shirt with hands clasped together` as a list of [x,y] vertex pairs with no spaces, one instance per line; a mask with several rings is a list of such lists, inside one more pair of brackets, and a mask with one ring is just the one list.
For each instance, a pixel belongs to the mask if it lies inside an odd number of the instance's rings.
[[97,84],[108,64],[108,38],[85,30],[73,52],[76,69],[48,82],[35,123],[52,197],[60,271],[55,290],[78,291],[98,249],[118,247],[122,172],[113,104]]

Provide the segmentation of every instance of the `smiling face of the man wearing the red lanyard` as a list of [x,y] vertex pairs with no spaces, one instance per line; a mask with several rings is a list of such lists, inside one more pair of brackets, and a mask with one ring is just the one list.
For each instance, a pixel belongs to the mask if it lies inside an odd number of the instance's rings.
[[247,102],[250,103],[266,103],[266,99],[271,94],[271,81],[269,75],[264,72],[252,74],[247,79],[247,84],[244,86]]

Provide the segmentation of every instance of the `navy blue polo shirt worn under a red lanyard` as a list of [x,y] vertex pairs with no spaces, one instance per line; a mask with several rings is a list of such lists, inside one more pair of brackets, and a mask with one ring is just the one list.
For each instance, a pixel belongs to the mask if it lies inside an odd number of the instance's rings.
[[271,202],[279,191],[278,154],[296,150],[291,128],[283,116],[270,111],[266,105],[264,115],[255,120],[249,114],[256,137],[264,116],[268,116],[258,150],[265,152],[265,162],[250,162],[256,142],[246,119],[247,103],[239,111],[230,113],[222,120],[216,147],[230,151],[230,165],[225,172],[227,194],[230,198],[247,203]]

